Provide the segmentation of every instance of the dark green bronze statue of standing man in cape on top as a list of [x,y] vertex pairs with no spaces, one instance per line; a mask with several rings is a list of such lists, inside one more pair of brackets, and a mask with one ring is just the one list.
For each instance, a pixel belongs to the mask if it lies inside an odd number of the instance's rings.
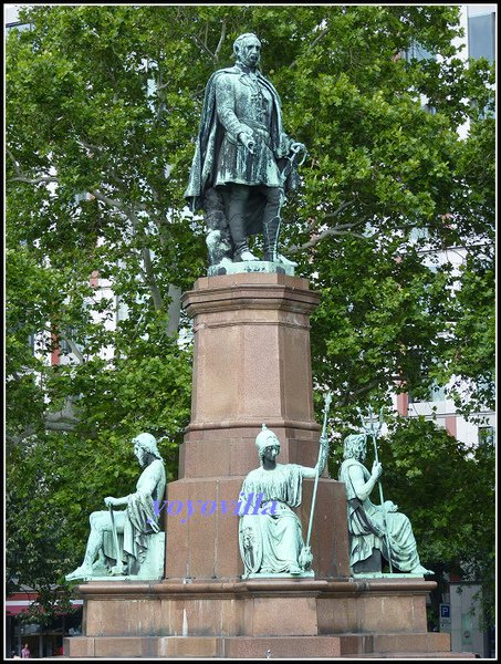
[[236,65],[207,84],[185,197],[194,211],[203,208],[209,230],[212,222],[227,241],[227,258],[259,260],[249,236],[262,232],[263,260],[291,264],[278,252],[280,212],[294,186],[295,156],[305,147],[283,131],[280,97],[258,69],[255,34],[241,34],[233,53]]

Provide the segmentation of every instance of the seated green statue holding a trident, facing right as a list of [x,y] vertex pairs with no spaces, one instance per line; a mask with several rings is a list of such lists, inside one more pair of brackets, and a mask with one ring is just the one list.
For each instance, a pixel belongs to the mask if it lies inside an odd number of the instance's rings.
[[390,500],[379,506],[370,501],[370,492],[383,473],[383,466],[374,461],[369,473],[363,465],[366,454],[365,434],[352,434],[345,438],[340,481],[346,487],[352,570],[380,571],[380,558],[379,569],[370,568],[370,563],[363,564],[380,551],[400,572],[432,574],[420,564],[410,521],[397,511],[398,506]]

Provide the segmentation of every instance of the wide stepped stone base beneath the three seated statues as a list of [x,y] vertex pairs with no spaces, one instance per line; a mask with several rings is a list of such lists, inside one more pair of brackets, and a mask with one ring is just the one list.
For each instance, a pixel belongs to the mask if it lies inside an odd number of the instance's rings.
[[427,632],[422,578],[187,581],[80,585],[85,636],[65,639],[65,655],[452,656],[450,634]]

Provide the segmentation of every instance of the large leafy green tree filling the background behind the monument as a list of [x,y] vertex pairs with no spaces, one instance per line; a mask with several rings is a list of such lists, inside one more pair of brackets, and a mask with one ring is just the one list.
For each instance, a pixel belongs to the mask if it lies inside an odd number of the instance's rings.
[[[458,58],[458,11],[25,9],[30,30],[11,32],[7,53],[8,459],[33,447],[53,459],[50,509],[65,510],[60,539],[75,562],[82,516],[129,490],[133,435],[163,438],[176,470],[190,392],[179,297],[206,270],[203,226],[182,191],[205,84],[231,64],[241,32],[262,37],[285,127],[310,151],[283,242],[322,294],[313,372],[334,391],[336,430],[356,422],[356,405],[452,376],[471,381],[468,402],[458,394],[466,413],[492,404],[494,173],[476,165],[494,154],[493,69]],[[416,44],[431,55],[406,56]],[[437,259],[458,247],[459,272]],[[106,297],[92,274],[113,284]],[[25,341],[41,331],[38,360]],[[50,365],[62,344],[70,363]],[[34,477],[10,474],[12,500]],[[419,519],[417,528],[434,559]],[[20,551],[32,541],[9,533]]]

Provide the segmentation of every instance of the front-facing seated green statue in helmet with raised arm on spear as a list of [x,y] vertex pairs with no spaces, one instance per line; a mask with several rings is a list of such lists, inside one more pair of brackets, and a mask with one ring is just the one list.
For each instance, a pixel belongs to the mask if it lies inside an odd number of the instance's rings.
[[[243,560],[243,579],[250,574],[280,573],[300,575],[307,571],[312,556],[304,547],[301,521],[291,508],[301,505],[303,477],[322,475],[328,444],[321,439],[321,454],[314,468],[298,464],[278,464],[280,443],[263,424],[255,438],[260,468],[246,477],[240,501],[254,501],[249,513],[240,517],[239,544]],[[259,510],[259,511],[258,511]],[[311,575],[309,572],[307,575]]]

